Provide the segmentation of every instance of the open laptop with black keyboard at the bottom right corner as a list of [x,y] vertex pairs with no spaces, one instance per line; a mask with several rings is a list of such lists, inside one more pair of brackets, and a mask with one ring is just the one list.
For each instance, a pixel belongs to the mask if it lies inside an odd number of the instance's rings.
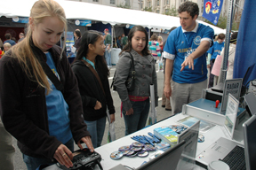
[[222,160],[230,170],[256,169],[256,115],[244,122],[244,145],[220,137],[215,143],[199,154],[201,166],[206,167],[213,160]]

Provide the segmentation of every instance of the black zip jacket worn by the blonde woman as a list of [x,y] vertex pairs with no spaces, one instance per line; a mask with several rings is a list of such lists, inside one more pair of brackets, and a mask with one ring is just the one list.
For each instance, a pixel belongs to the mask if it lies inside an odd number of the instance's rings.
[[[31,47],[46,59],[42,50],[34,44]],[[70,128],[77,143],[90,133],[82,118],[82,100],[76,77],[66,55],[60,57],[60,47],[55,45],[49,51],[64,85],[62,94],[69,106]],[[56,137],[49,135],[45,89],[28,78],[18,59],[10,57],[11,55],[12,49],[0,60],[0,114],[4,128],[18,140],[22,153],[36,158],[53,158],[61,143]]]

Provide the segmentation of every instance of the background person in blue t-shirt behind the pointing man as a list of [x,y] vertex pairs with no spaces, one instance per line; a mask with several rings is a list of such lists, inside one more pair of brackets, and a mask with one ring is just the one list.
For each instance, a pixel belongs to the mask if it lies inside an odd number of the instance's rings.
[[217,56],[220,55],[221,50],[224,48],[224,39],[225,39],[224,34],[221,33],[220,35],[218,35],[217,41],[213,42],[211,49],[207,51],[208,53],[207,67],[210,68],[210,79],[209,79],[208,88],[212,88],[213,86],[214,75],[211,73],[212,66]]

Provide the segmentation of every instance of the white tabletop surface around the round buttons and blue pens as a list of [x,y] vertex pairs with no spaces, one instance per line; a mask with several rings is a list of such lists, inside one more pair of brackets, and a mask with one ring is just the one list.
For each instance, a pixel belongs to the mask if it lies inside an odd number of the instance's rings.
[[[130,145],[134,140],[131,139],[133,135],[148,135],[148,132],[153,133],[154,128],[160,128],[164,126],[170,126],[170,125],[177,125],[179,124],[177,120],[180,120],[182,118],[187,117],[188,115],[183,115],[182,113],[176,114],[175,116],[172,116],[171,118],[168,118],[166,120],[162,120],[160,122],[157,122],[156,124],[148,127],[148,128],[143,128],[140,131],[137,131],[133,133],[132,135],[126,135],[120,139],[117,139],[116,141],[112,143],[107,143],[103,146],[100,146],[99,148],[96,148],[95,151],[100,153],[101,155],[101,166],[103,169],[108,170],[112,168],[113,166],[117,166],[118,164],[123,164],[125,166],[131,166],[131,167],[139,167],[144,161],[148,161],[148,158],[154,154],[155,151],[150,151],[148,157],[146,158],[140,158],[140,157],[134,157],[134,158],[129,158],[129,157],[123,157],[117,160],[114,160],[110,158],[110,153],[113,151],[118,151],[118,148],[124,145]],[[242,123],[239,125],[241,128],[237,128],[237,131],[241,131],[242,129]],[[242,133],[239,134],[237,132],[240,138]],[[204,135],[204,143],[197,143],[197,150],[196,150],[196,161],[200,162],[200,158],[198,157],[198,154],[200,154],[202,151],[204,151],[206,148],[208,148],[214,141],[219,139],[220,137],[225,137],[228,138],[228,135],[225,133],[225,130],[222,126],[216,125],[214,128],[210,129],[209,131],[205,133],[199,132],[199,134]],[[229,138],[230,139],[230,138]],[[241,142],[241,141],[238,141]],[[243,141],[242,141],[243,143]],[[58,170],[59,168],[56,165],[53,166],[48,166],[47,168],[44,168],[45,170]],[[95,169],[100,169],[98,166],[95,167]],[[203,167],[200,166],[195,166],[194,170],[199,170],[199,169],[204,169]]]

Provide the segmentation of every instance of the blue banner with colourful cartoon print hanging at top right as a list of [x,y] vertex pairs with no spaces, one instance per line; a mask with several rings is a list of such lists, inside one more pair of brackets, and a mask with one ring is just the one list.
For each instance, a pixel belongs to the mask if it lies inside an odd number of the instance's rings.
[[220,18],[223,0],[204,0],[204,19],[208,19],[215,26]]

